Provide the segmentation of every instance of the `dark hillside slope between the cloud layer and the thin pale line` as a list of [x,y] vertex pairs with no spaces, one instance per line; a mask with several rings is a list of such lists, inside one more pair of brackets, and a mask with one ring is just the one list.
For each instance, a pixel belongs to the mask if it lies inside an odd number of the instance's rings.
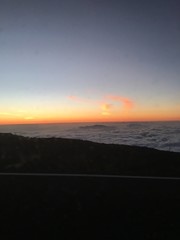
[[180,177],[180,153],[1,133],[0,172]]

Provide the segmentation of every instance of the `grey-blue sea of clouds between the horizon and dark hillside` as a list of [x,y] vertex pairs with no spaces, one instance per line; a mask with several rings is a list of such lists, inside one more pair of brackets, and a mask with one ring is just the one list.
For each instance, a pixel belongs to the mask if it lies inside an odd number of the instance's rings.
[[0,132],[146,146],[180,152],[180,122],[1,125]]

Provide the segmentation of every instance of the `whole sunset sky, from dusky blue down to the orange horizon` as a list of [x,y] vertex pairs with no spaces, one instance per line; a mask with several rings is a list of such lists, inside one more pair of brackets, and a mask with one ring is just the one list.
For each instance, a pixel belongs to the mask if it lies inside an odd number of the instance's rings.
[[180,120],[179,0],[1,0],[0,124]]

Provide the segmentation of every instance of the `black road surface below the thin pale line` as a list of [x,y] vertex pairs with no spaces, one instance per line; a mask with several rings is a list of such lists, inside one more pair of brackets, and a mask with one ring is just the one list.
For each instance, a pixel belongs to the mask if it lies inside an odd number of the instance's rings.
[[177,179],[0,175],[0,239],[179,240],[179,189]]

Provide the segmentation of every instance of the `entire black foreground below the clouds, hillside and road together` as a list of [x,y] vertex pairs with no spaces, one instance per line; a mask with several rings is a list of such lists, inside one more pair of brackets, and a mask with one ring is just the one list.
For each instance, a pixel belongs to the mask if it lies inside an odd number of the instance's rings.
[[0,239],[180,239],[180,153],[0,134],[0,172]]

